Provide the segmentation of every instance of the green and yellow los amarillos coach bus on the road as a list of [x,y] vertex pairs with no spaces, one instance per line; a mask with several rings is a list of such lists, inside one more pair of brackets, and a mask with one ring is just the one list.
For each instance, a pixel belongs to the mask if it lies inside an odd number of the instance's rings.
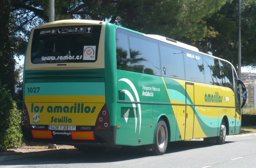
[[34,28],[24,62],[25,140],[140,146],[239,134],[246,87],[196,47],[94,20]]

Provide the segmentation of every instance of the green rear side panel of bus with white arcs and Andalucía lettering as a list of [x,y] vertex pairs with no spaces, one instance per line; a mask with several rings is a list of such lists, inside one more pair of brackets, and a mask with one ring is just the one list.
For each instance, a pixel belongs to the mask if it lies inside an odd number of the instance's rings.
[[[157,118],[173,113],[164,81],[160,76],[117,70],[117,144],[152,144]],[[154,114],[154,120],[153,120]],[[167,114],[169,116],[170,114]],[[176,128],[176,124],[174,124]]]

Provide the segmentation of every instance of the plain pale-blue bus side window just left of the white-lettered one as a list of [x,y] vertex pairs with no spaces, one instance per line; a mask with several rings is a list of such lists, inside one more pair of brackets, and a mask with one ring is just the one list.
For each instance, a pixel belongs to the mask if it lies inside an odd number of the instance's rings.
[[162,75],[169,78],[185,79],[182,49],[171,44],[159,42]]

